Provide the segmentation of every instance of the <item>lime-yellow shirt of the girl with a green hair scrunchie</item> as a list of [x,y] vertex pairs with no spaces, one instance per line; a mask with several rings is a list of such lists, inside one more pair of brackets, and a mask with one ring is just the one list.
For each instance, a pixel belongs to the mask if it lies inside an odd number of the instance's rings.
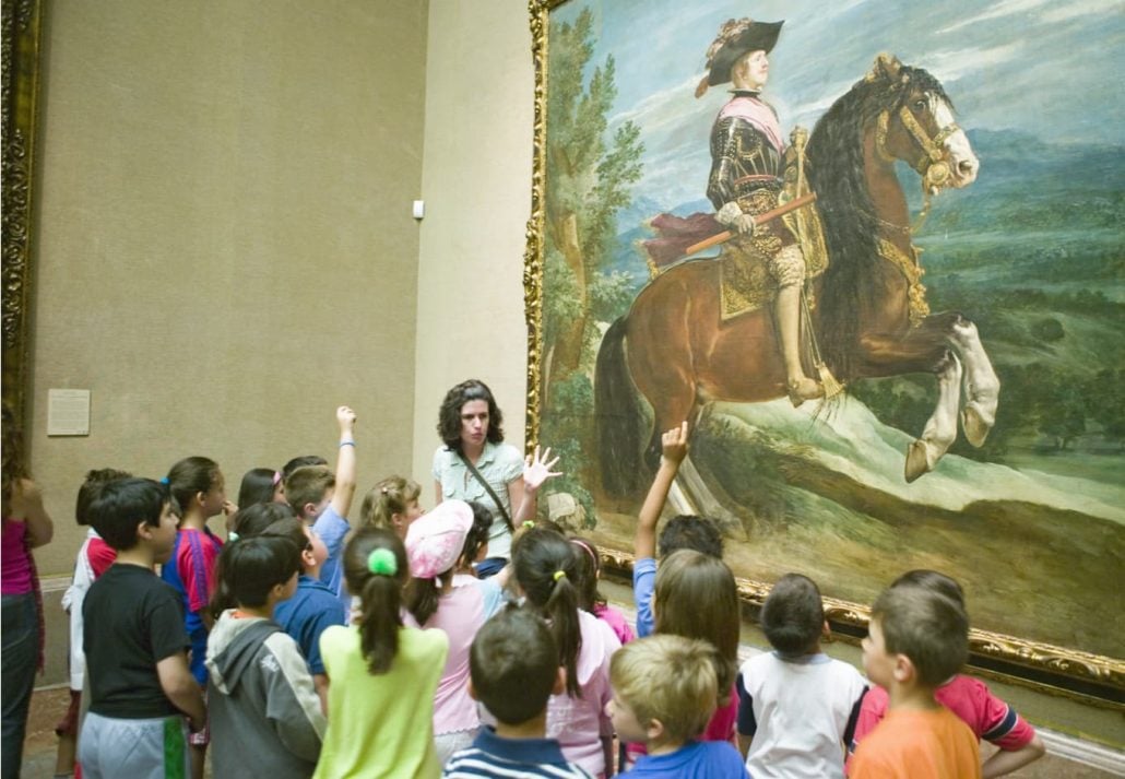
[[441,630],[400,628],[390,670],[372,675],[358,627],[334,625],[321,634],[328,729],[313,779],[440,776],[433,697],[448,653]]

